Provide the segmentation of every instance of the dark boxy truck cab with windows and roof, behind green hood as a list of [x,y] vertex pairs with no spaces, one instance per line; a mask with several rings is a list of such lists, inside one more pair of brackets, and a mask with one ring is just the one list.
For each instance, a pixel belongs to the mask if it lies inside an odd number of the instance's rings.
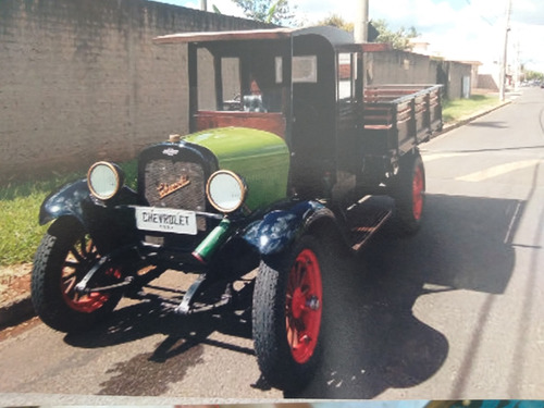
[[190,132],[271,132],[290,151],[289,190],[333,198],[354,183],[362,126],[362,48],[330,27],[163,36],[188,44]]

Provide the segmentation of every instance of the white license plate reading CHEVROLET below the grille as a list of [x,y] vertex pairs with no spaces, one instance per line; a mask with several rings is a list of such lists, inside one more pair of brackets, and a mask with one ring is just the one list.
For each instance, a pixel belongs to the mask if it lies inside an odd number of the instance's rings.
[[136,207],[136,227],[174,234],[197,234],[197,215],[172,208]]

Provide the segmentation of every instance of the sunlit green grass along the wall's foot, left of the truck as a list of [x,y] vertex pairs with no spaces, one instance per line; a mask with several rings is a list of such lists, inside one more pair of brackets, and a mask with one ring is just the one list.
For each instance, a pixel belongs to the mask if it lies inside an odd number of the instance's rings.
[[[126,182],[135,187],[136,161],[122,164]],[[32,262],[47,225],[39,225],[39,208],[57,188],[85,176],[85,171],[47,180],[11,182],[0,187],[0,267]]]

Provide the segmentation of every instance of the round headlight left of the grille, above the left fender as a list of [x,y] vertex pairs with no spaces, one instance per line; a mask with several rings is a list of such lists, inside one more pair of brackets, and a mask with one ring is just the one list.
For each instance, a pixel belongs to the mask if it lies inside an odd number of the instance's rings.
[[87,173],[90,193],[100,200],[109,200],[123,186],[123,171],[113,163],[99,161],[92,164]]

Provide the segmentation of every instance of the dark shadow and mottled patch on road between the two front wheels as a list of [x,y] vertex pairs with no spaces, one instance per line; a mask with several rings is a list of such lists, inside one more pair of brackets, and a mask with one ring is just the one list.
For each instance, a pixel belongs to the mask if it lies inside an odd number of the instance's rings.
[[[103,348],[157,337],[154,345],[144,346],[141,353],[129,354],[129,358],[112,364],[97,394],[161,396],[170,384],[183,382],[190,369],[205,363],[205,346],[255,356],[250,305],[250,298],[242,298],[228,312],[177,316],[156,302],[139,302],[121,307],[89,332],[66,335],[64,342],[81,348]],[[213,333],[234,339],[218,338]]]

